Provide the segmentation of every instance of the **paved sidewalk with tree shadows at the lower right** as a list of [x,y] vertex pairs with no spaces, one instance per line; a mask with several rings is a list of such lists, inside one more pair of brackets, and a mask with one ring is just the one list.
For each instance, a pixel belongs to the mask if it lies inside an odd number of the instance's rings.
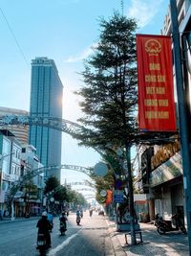
[[[159,235],[154,224],[140,223],[143,243],[128,245],[125,242],[125,232],[117,232],[116,222],[106,221],[117,256],[189,256],[188,238],[181,232]],[[131,244],[130,236],[128,236],[128,243]]]

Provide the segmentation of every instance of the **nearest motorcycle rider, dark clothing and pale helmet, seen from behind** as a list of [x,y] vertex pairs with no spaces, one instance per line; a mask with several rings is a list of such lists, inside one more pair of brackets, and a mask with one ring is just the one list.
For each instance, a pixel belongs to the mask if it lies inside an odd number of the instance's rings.
[[44,234],[46,239],[47,247],[52,247],[51,245],[51,235],[50,235],[50,221],[47,219],[47,212],[42,213],[41,219],[37,222],[36,227],[38,227],[38,234]]

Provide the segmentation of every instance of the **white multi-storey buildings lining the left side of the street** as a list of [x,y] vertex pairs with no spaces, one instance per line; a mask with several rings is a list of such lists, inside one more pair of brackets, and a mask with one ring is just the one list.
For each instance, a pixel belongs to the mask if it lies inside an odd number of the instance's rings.
[[[32,145],[21,145],[8,129],[0,129],[0,210],[11,216],[11,185],[43,169]],[[31,175],[30,175],[31,176]],[[27,178],[13,197],[13,216],[36,215],[42,211],[44,173]]]

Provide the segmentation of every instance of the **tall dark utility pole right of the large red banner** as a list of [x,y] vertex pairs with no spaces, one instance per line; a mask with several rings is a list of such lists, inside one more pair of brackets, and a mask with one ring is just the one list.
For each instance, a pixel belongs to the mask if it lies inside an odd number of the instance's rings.
[[183,169],[183,188],[185,193],[187,231],[189,242],[189,255],[191,256],[191,153],[188,133],[187,109],[185,105],[185,91],[183,86],[181,54],[180,54],[180,33],[178,22],[177,1],[170,0],[171,24],[173,35],[173,50],[175,58],[176,84],[179,106],[179,128],[181,158]]

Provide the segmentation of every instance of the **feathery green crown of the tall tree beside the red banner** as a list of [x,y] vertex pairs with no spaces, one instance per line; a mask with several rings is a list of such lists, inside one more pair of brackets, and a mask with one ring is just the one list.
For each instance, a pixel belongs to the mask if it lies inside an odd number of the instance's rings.
[[137,132],[137,67],[134,19],[115,12],[100,18],[100,37],[94,54],[85,60],[85,85],[76,92],[84,116],[81,144],[102,149],[130,143]]

